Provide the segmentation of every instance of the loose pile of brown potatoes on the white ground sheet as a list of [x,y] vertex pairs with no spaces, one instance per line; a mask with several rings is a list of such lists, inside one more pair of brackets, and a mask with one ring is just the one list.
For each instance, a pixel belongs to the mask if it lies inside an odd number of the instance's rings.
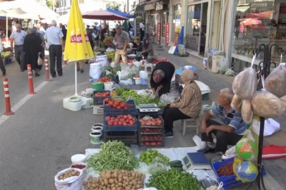
[[145,175],[126,170],[100,172],[100,177],[88,177],[85,190],[137,190],[144,188]]

